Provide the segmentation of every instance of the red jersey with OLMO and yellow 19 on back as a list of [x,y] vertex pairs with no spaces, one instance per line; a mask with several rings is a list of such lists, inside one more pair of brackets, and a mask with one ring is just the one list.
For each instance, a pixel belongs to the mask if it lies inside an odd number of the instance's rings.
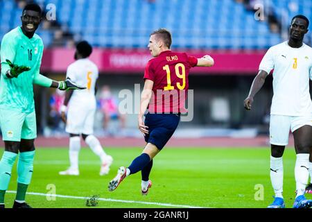
[[189,89],[189,70],[197,65],[197,58],[187,53],[163,51],[148,61],[144,80],[154,82],[148,105],[150,113],[185,113]]

